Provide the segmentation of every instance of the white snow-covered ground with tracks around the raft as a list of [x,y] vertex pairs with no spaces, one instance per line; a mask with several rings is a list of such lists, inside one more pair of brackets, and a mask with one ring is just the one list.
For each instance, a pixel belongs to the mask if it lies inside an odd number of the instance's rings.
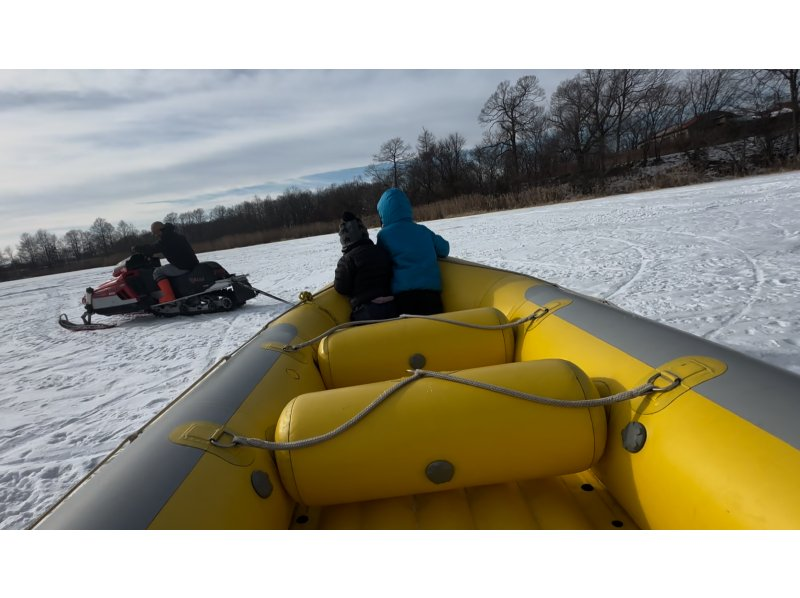
[[[377,200],[377,198],[376,198]],[[426,222],[451,255],[531,274],[800,373],[800,173]],[[375,238],[376,230],[370,231]],[[333,278],[335,232],[201,255],[295,301]],[[95,317],[110,267],[0,284],[0,529],[30,525],[128,435],[286,306]]]

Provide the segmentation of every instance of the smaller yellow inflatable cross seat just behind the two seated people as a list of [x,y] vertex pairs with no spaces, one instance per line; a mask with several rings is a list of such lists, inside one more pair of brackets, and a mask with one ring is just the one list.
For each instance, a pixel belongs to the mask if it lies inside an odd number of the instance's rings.
[[[508,323],[494,307],[430,317],[483,326]],[[513,361],[514,331],[421,318],[387,320],[327,336],[319,344],[317,358],[325,386],[341,388],[402,378],[409,369],[448,371]]]

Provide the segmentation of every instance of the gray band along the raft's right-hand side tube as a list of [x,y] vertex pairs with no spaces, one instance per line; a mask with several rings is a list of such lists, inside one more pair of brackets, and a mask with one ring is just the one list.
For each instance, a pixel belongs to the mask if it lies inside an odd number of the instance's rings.
[[571,299],[550,317],[586,330],[653,368],[686,355],[719,359],[727,371],[703,382],[698,392],[800,449],[800,376],[793,372],[549,283],[531,286],[525,298],[537,305]]

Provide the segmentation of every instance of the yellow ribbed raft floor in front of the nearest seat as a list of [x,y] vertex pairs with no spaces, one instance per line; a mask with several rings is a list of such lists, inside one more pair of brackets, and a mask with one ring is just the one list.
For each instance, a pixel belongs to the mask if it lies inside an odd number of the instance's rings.
[[327,507],[290,529],[638,529],[591,471]]

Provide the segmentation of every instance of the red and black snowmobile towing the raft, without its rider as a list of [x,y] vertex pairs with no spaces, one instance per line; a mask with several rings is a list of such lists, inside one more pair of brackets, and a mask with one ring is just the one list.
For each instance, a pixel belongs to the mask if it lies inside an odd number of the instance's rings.
[[217,262],[200,262],[190,272],[170,277],[175,299],[159,303],[161,290],[153,280],[153,270],[161,265],[158,257],[134,253],[119,262],[114,278],[98,287],[89,287],[82,298],[86,311],[83,324],[71,322],[61,314],[59,324],[69,330],[113,328],[116,324],[92,323],[92,316],[152,313],[156,316],[177,316],[229,311],[245,304],[257,294],[269,295],[254,289],[244,274],[230,274]]

